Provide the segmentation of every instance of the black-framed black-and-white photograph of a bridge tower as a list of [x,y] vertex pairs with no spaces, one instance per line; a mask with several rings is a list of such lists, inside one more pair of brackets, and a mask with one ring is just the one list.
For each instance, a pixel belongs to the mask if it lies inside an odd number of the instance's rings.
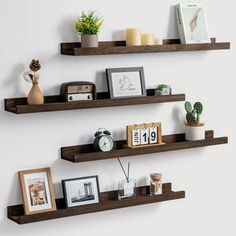
[[98,176],[62,180],[67,207],[99,203]]

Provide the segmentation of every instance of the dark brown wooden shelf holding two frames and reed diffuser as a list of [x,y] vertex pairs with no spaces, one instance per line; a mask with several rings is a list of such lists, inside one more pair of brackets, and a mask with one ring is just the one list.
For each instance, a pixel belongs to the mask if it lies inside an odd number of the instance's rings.
[[137,196],[126,200],[117,200],[118,192],[110,191],[101,193],[101,202],[98,204],[84,205],[79,207],[66,208],[64,199],[57,199],[57,210],[53,212],[24,215],[23,205],[9,206],[7,208],[8,218],[18,224],[28,224],[39,221],[64,218],[100,211],[107,211],[125,207],[145,205],[175,199],[185,198],[185,192],[174,192],[171,190],[171,183],[163,184],[163,194],[158,196],[149,195],[149,186],[138,187]]

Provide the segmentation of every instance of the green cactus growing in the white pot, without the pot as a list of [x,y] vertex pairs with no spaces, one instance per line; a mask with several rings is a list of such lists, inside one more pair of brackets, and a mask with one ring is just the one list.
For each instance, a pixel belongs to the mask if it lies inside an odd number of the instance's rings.
[[200,123],[200,115],[203,112],[203,105],[200,102],[196,102],[194,106],[192,107],[192,104],[190,102],[185,102],[185,110],[187,112],[186,114],[186,120],[187,124],[189,126],[201,126],[202,123]]

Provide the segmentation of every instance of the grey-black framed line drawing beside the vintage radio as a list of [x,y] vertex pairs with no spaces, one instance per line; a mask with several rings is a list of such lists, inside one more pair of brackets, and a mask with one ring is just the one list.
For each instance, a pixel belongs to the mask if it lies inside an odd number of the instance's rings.
[[106,69],[111,98],[146,96],[143,67]]

